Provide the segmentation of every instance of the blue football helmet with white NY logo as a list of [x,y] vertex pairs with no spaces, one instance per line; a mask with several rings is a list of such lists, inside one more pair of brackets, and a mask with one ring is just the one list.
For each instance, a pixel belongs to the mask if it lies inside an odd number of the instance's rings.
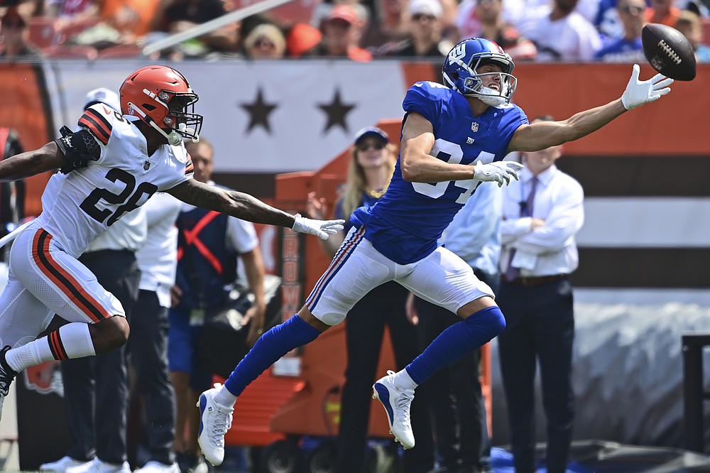
[[[486,64],[496,64],[503,68],[502,72],[479,73],[479,67]],[[518,80],[513,75],[515,64],[503,48],[486,38],[469,38],[461,41],[449,51],[442,76],[446,85],[459,92],[481,99],[486,105],[497,107],[510,102]],[[500,90],[485,87],[483,77],[499,77]]]

